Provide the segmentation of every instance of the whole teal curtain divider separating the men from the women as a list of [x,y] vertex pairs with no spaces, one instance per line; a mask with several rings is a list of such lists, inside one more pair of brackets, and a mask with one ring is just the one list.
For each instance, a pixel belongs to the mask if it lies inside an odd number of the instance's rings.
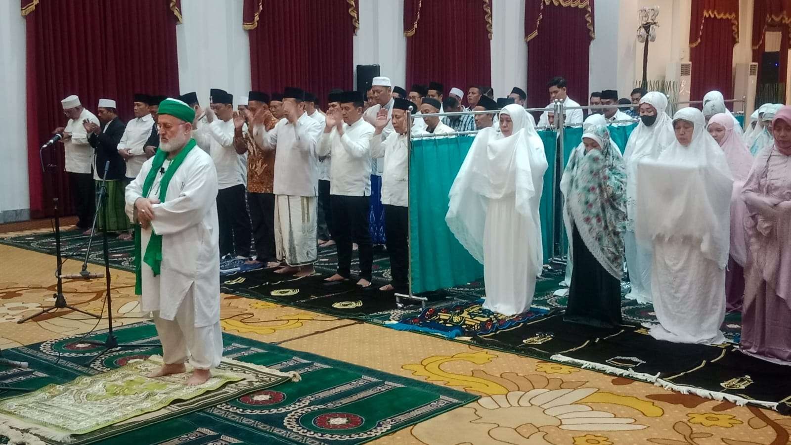
[[[636,124],[630,127],[610,127],[612,139],[621,150],[626,147],[626,139],[635,126]],[[548,261],[554,239],[553,189],[558,186],[553,169],[557,139],[554,131],[539,131],[539,137],[549,164],[547,173],[544,173],[543,193],[539,204],[544,261]],[[566,128],[563,138],[565,167],[571,150],[581,143],[582,129]],[[412,141],[409,171],[409,244],[413,294],[459,286],[483,276],[483,265],[475,261],[467,249],[460,245],[445,224],[448,192],[473,139],[475,138],[472,136],[460,136]],[[564,254],[568,243],[562,225],[560,230],[562,251],[558,254]]]

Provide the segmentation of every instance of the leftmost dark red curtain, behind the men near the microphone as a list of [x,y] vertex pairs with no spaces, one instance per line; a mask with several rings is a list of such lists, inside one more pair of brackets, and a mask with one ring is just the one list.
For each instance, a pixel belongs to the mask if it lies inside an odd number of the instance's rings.
[[[28,175],[33,218],[51,215],[50,173],[41,171],[39,147],[66,124],[60,101],[77,94],[96,114],[100,97],[115,99],[123,120],[136,92],[176,95],[179,71],[176,23],[179,2],[135,0],[33,2],[22,0],[27,44]],[[45,163],[64,165],[45,155]],[[47,150],[52,153],[51,150]],[[68,177],[57,173],[60,213],[72,211]],[[45,184],[45,182],[47,184]]]

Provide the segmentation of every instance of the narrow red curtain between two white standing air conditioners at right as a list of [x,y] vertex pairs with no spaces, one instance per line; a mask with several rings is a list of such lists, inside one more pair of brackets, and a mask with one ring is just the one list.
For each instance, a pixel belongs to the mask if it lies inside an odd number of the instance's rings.
[[739,42],[739,2],[692,0],[690,100],[716,89],[733,98],[733,45]]

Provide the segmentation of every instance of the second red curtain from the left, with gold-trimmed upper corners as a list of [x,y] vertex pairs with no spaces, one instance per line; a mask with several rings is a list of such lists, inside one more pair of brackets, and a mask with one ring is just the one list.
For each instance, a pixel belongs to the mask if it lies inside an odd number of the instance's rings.
[[354,0],[244,0],[243,21],[253,89],[296,86],[326,104],[331,89],[353,88]]

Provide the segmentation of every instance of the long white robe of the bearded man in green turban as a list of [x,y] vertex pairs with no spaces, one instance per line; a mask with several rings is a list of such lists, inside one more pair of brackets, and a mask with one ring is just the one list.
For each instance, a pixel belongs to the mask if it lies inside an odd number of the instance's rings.
[[[127,187],[127,215],[135,214],[134,201],[142,196],[143,183],[153,158],[147,160]],[[163,167],[167,169],[168,161]],[[157,198],[162,173],[149,191]],[[217,220],[217,172],[205,151],[195,147],[176,169],[164,203],[153,205],[149,229],[141,229],[142,255],[151,239],[151,229],[162,236],[161,273],[153,276],[142,264],[142,310],[159,311],[159,317],[174,320],[187,292],[192,291],[195,327],[220,319],[220,250]],[[134,215],[136,216],[136,215]]]

